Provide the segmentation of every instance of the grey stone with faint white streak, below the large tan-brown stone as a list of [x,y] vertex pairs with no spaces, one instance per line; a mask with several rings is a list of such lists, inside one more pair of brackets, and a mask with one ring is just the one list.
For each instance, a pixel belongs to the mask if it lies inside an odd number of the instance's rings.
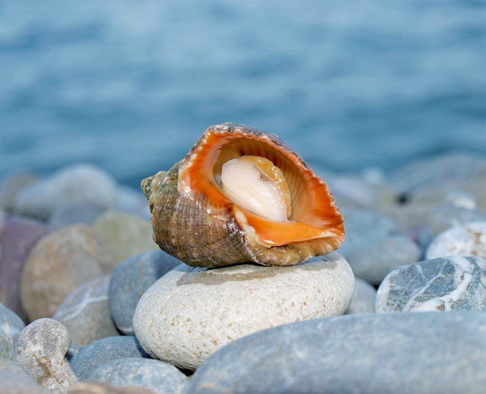
[[66,297],[53,316],[81,346],[118,335],[108,306],[109,284],[109,275],[85,283]]

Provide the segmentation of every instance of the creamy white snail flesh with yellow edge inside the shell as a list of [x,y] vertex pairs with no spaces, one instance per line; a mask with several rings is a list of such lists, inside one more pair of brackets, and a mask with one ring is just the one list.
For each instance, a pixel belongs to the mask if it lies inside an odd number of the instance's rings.
[[242,208],[278,222],[292,215],[290,190],[282,171],[272,161],[241,156],[223,164],[221,189]]

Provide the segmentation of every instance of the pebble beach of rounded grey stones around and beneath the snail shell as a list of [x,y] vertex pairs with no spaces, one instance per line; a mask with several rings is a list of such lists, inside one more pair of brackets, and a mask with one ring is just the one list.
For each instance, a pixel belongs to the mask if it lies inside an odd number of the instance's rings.
[[486,160],[315,170],[346,239],[290,267],[185,265],[142,191],[89,164],[7,179],[0,391],[484,391]]

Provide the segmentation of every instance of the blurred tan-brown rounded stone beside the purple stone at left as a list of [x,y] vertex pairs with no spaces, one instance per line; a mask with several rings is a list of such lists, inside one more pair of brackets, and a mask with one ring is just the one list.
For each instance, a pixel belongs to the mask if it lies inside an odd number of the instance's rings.
[[22,305],[31,320],[52,317],[72,290],[115,266],[111,251],[89,227],[72,225],[49,233],[25,263],[20,282]]

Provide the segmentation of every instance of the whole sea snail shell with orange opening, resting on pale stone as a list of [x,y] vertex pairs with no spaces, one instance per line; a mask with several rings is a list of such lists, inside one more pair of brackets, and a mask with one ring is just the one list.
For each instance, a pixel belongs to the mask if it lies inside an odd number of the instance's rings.
[[[238,167],[240,161],[232,161],[237,158],[247,163]],[[260,174],[261,184],[273,182],[265,186],[276,190],[277,196],[257,196],[256,204],[277,206],[277,211],[280,204],[286,212],[283,219],[280,211],[274,217],[265,214],[265,207],[259,211],[245,205],[245,196],[253,196],[254,190],[230,193],[239,187],[238,182],[244,183],[247,172],[251,179],[252,171]],[[228,184],[235,174],[241,173],[242,179],[226,187],[222,172]],[[252,180],[247,183],[250,189],[259,187]],[[144,179],[141,186],[150,203],[155,242],[190,266],[223,267],[249,261],[289,266],[335,251],[344,241],[343,215],[327,184],[276,135],[252,127],[210,126],[184,160],[168,172]],[[274,203],[273,198],[280,202]]]

